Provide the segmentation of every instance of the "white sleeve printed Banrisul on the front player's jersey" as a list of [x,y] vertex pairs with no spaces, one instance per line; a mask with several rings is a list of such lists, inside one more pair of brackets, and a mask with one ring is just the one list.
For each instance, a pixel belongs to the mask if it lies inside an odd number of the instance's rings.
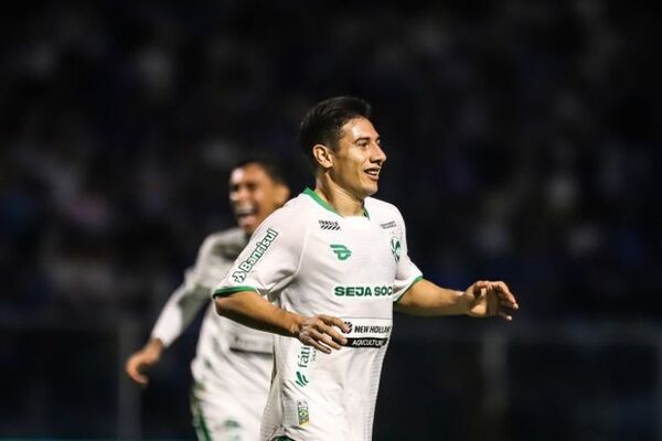
[[[303,217],[303,218],[302,218]],[[253,234],[212,297],[256,291],[271,301],[297,275],[308,235],[305,215],[277,209]]]

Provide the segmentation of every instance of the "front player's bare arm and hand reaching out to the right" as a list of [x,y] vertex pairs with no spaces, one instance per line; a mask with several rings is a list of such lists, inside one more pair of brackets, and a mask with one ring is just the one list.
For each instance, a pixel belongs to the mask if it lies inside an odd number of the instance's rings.
[[504,282],[487,280],[473,283],[465,292],[420,280],[395,303],[396,311],[414,315],[498,315],[508,321],[517,309],[517,301]]

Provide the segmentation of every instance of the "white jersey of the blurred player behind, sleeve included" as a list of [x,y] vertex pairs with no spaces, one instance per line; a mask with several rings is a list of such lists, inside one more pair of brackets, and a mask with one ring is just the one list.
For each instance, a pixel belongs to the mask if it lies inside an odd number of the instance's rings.
[[[161,311],[151,336],[169,346],[200,309],[206,306],[196,355],[191,363],[194,394],[199,399],[226,407],[227,411],[221,409],[215,412],[223,418],[232,420],[232,415],[250,416],[248,420],[242,417],[242,421],[234,422],[249,424],[257,430],[271,378],[274,338],[268,333],[220,316],[210,302],[212,289],[225,277],[246,243],[246,235],[241,228],[207,236],[194,267],[186,271],[184,282]],[[206,418],[221,417],[210,415]]]

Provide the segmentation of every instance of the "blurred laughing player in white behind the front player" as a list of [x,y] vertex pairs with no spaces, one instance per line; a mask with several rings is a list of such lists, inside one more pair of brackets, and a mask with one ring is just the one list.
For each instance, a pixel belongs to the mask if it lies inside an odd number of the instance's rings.
[[126,364],[127,374],[147,386],[145,370],[203,306],[209,306],[191,364],[193,426],[200,440],[253,441],[267,401],[273,366],[273,336],[218,316],[210,294],[223,279],[257,226],[289,197],[280,171],[271,162],[245,161],[229,178],[229,203],[238,228],[211,234],[193,268],[170,297],[145,347]]

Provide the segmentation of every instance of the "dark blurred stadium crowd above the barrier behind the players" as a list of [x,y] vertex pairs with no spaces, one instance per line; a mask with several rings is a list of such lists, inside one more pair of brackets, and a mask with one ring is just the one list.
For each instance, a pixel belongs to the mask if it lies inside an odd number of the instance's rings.
[[233,162],[268,151],[311,185],[298,121],[341,94],[374,106],[377,196],[428,278],[503,278],[524,321],[662,313],[662,32],[643,9],[41,2],[0,22],[0,316],[147,332],[233,225]]

